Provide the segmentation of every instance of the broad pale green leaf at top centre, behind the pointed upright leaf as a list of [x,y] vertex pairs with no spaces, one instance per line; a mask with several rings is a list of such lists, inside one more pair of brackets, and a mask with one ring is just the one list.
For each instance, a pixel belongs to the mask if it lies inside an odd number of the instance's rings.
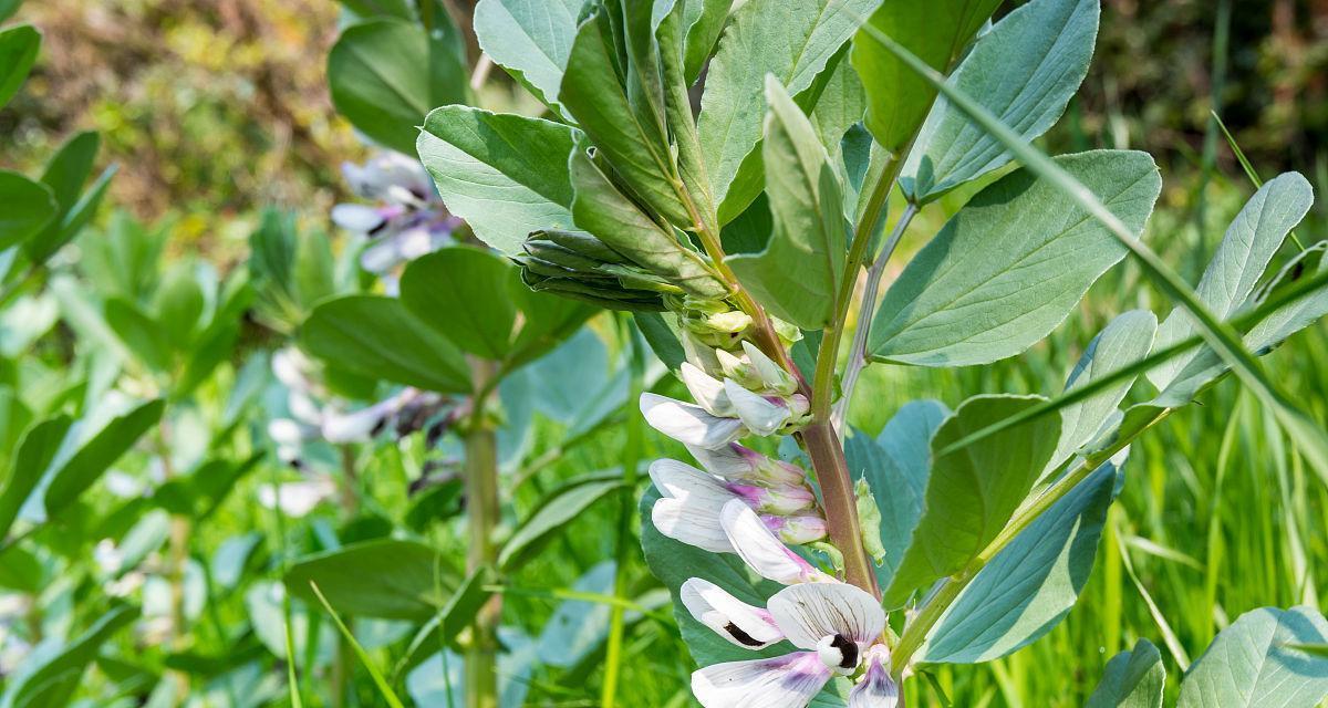
[[879,4],[880,0],[750,0],[733,13],[710,60],[697,118],[701,154],[710,190],[721,205],[721,222],[741,214],[761,193],[764,171],[756,146],[765,116],[766,76],[773,74],[789,96],[810,89],[853,37],[861,17]]

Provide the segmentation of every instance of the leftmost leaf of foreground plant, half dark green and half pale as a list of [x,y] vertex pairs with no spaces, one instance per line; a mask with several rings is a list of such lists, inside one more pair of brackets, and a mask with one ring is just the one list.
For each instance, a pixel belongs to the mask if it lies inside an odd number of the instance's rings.
[[448,209],[489,246],[515,255],[531,231],[572,227],[570,128],[444,106],[425,120],[417,147]]

